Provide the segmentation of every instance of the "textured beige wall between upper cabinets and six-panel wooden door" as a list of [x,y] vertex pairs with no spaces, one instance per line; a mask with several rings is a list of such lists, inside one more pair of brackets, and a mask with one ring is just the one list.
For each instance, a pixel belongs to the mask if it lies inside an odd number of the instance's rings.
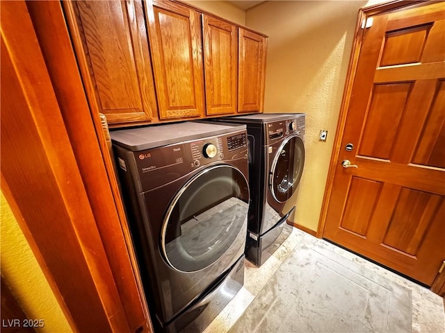
[[[373,3],[382,1],[372,1]],[[367,1],[267,1],[245,24],[268,39],[264,112],[306,112],[296,223],[317,230],[359,8]],[[327,142],[318,141],[328,130]]]

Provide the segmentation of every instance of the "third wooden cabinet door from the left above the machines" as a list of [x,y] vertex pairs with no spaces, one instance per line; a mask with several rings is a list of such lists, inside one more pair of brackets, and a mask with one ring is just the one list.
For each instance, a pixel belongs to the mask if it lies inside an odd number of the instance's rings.
[[236,114],[237,28],[207,15],[203,18],[207,114]]

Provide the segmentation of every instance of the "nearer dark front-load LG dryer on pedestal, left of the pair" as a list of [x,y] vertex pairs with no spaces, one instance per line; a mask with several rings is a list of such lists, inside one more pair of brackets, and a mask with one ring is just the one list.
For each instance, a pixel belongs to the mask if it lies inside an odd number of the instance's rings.
[[201,332],[243,286],[245,126],[184,122],[111,139],[152,322]]

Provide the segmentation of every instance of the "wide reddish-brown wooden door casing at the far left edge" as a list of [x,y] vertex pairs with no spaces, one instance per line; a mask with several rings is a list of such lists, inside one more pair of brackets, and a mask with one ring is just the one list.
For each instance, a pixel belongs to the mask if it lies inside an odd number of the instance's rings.
[[75,332],[129,332],[25,1],[1,3],[1,190]]

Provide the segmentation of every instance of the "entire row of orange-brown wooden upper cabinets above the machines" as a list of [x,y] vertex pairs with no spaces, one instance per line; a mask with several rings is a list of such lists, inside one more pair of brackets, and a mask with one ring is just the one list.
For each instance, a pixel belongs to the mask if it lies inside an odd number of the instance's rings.
[[90,108],[111,126],[263,112],[264,35],[175,1],[63,6]]

